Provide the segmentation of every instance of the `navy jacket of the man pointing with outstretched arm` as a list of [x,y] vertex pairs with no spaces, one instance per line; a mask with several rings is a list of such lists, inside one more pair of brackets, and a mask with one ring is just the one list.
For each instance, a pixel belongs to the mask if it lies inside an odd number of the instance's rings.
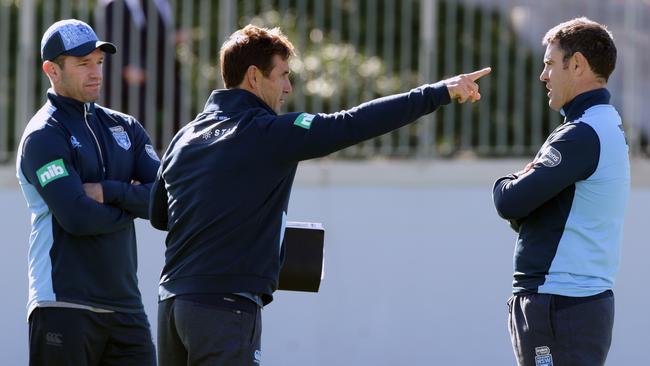
[[214,91],[172,140],[152,188],[151,223],[169,231],[160,298],[248,292],[269,303],[298,162],[449,102],[447,87],[434,84],[338,113],[279,116],[246,90]]

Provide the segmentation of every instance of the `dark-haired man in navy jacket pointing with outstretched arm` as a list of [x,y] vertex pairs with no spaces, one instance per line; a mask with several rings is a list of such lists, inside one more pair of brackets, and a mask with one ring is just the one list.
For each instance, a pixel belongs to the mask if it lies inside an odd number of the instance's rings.
[[154,227],[169,231],[160,281],[159,362],[259,365],[261,308],[284,258],[298,162],[409,124],[452,99],[481,98],[489,68],[332,114],[287,113],[291,42],[248,25],[221,48],[226,89],[181,129],[152,188]]

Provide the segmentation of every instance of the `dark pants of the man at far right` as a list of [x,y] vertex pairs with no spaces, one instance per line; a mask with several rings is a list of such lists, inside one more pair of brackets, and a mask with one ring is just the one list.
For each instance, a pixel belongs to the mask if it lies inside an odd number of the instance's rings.
[[612,343],[614,295],[514,295],[508,300],[519,366],[604,365]]

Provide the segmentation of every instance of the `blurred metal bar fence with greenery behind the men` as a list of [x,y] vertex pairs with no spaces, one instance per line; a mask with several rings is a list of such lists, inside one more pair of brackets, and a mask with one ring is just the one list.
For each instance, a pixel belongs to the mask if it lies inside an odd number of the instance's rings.
[[76,17],[116,43],[100,103],[135,115],[158,149],[222,87],[218,52],[237,28],[280,26],[298,48],[288,110],[334,112],[490,65],[483,100],[450,105],[337,157],[527,156],[560,122],[538,80],[551,26],[586,15],[619,49],[610,80],[634,154],[648,152],[646,0],[0,0],[0,159],[9,160],[49,82],[40,38]]

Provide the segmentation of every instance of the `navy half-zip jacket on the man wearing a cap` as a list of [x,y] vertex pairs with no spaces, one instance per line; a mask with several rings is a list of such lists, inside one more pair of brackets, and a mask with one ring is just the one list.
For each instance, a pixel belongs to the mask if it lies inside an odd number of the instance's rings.
[[[133,219],[148,218],[160,165],[149,136],[128,115],[52,91],[47,98],[16,162],[32,212],[29,312],[51,302],[142,311]],[[92,182],[101,182],[103,204],[85,194]]]

